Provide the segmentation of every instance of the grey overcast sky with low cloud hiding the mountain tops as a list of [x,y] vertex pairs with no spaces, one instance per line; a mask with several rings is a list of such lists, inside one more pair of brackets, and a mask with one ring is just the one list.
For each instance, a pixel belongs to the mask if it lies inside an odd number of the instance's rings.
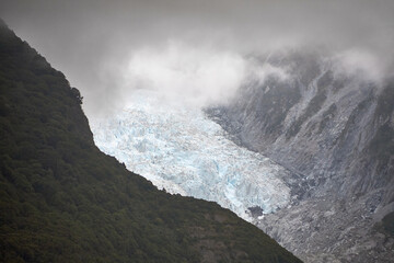
[[384,70],[393,14],[393,0],[0,0],[0,16],[80,89],[88,115],[138,85],[193,82],[190,94],[221,96],[248,68],[244,54],[286,47],[364,52]]

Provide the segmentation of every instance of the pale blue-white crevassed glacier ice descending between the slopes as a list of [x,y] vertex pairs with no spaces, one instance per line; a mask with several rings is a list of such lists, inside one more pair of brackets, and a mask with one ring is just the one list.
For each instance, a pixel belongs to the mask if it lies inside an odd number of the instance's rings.
[[286,170],[239,147],[201,110],[134,92],[129,106],[91,119],[94,141],[159,188],[213,201],[251,220],[250,207],[273,213],[290,202]]

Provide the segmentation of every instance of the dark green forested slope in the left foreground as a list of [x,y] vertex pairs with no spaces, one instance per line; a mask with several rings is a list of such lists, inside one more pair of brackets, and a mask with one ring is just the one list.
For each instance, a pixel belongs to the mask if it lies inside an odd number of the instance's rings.
[[230,210],[102,153],[81,103],[1,22],[0,261],[300,262]]

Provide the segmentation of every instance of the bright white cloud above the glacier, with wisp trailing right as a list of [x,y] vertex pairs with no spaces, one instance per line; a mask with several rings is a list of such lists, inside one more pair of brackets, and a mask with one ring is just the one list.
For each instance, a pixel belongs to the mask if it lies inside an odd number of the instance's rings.
[[179,41],[132,50],[124,64],[112,68],[111,79],[117,76],[121,90],[121,106],[127,106],[135,90],[149,89],[164,100],[206,107],[229,102],[246,81],[263,83],[268,76],[289,78],[286,68],[259,61],[254,56]]

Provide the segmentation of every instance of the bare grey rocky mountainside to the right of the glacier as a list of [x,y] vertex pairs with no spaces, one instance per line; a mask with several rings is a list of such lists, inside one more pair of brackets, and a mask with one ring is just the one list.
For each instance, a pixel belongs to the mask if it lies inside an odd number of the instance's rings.
[[[288,182],[299,204],[257,224],[312,262],[312,254],[356,261],[360,251],[383,248],[371,229],[393,210],[393,81],[372,81],[361,68],[314,52],[258,59],[287,77],[252,77],[232,103],[207,110],[234,141],[293,172]],[[347,228],[360,228],[362,239],[338,241],[335,235]],[[351,255],[338,242],[354,249]]]

